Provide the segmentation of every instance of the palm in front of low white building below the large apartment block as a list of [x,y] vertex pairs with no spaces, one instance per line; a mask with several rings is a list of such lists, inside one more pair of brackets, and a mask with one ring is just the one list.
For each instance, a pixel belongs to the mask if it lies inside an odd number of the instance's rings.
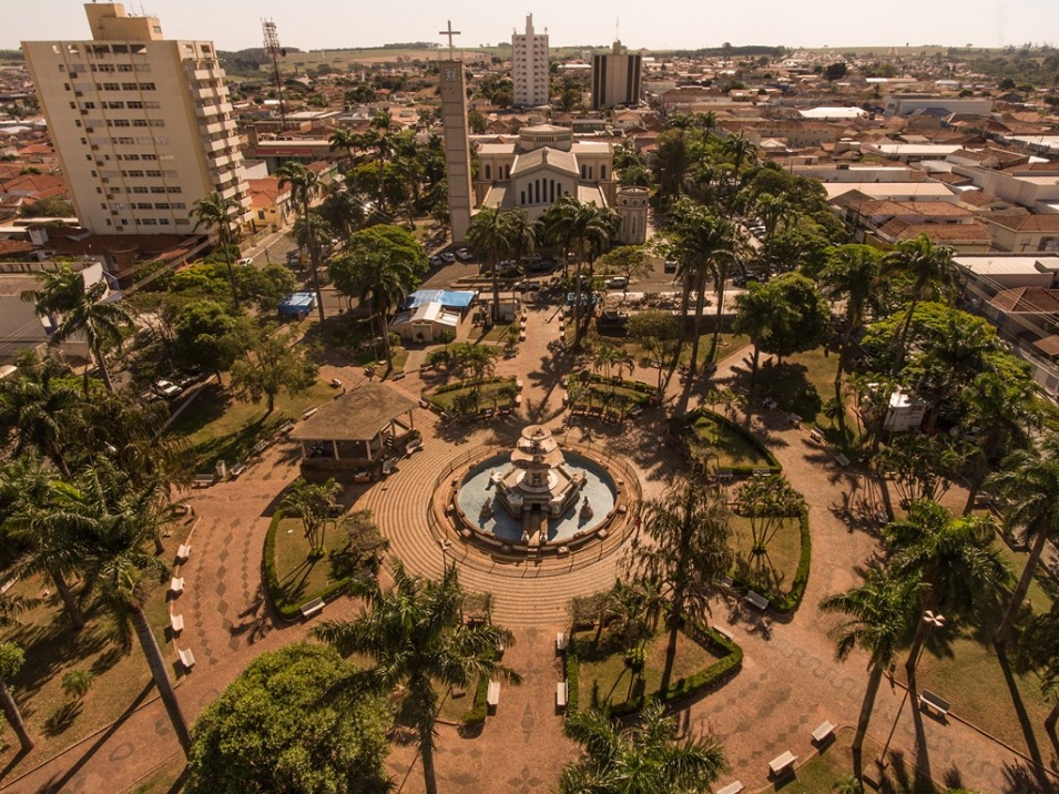
[[[48,339],[49,345],[59,345],[73,336],[83,335],[92,360],[103,376],[108,391],[114,390],[103,345],[121,347],[122,329],[132,327],[132,315],[120,303],[104,301],[109,287],[104,279],[92,285],[84,283],[83,273],[74,273],[63,265],[58,273],[40,273],[40,289],[22,293],[22,299],[35,304],[37,314],[59,314],[59,325]],[[80,288],[78,288],[80,286]],[[84,393],[89,391],[89,373],[84,371]]]

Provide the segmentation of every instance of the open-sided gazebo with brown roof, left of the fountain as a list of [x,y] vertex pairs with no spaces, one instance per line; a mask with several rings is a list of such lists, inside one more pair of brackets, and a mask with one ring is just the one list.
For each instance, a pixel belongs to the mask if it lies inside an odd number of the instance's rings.
[[413,437],[417,406],[380,383],[337,397],[291,431],[289,438],[302,445],[302,472],[378,476],[383,460],[400,452]]

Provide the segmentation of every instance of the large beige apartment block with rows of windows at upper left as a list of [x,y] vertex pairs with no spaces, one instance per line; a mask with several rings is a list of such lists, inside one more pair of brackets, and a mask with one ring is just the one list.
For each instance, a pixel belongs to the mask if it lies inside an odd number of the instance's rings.
[[81,223],[96,234],[189,234],[216,191],[250,211],[224,70],[211,41],[162,38],[155,17],[85,3],[89,41],[22,52]]

